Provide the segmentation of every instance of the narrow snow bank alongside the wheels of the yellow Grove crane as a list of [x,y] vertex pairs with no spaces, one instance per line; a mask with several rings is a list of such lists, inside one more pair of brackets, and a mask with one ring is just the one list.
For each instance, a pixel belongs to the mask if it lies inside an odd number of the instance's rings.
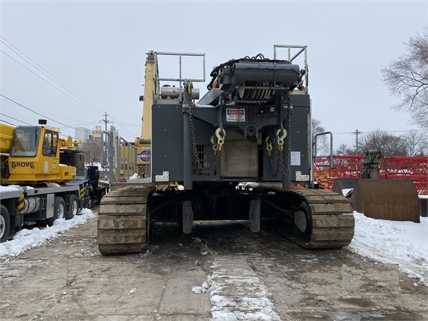
[[89,218],[95,217],[90,209],[82,209],[81,215],[76,215],[71,220],[59,218],[54,225],[45,228],[34,227],[32,230],[22,229],[15,234],[12,241],[0,244],[0,257],[17,256],[30,248],[45,244],[49,239],[54,239],[59,234],[70,230],[71,227],[84,224]]

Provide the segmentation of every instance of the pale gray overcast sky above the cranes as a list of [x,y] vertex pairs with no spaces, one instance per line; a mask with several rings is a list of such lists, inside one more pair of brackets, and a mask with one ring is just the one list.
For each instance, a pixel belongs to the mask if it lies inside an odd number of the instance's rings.
[[[75,136],[75,126],[104,128],[105,112],[125,140],[141,135],[148,50],[206,54],[208,83],[213,66],[258,53],[273,58],[273,45],[307,45],[312,117],[334,133],[335,148],[353,144],[356,129],[401,135],[415,128],[407,114],[390,109],[397,98],[388,94],[381,68],[427,26],[427,0],[0,0],[0,11],[0,94],[52,119],[48,124],[64,135]],[[161,72],[178,70],[169,64]],[[201,75],[200,61],[194,64],[185,66],[189,77]],[[196,84],[201,96],[206,83]],[[1,96],[0,110],[11,124],[43,118]]]

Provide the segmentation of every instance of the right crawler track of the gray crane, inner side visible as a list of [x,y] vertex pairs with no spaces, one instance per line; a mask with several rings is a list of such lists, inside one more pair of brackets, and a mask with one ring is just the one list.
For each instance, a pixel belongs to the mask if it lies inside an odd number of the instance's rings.
[[[346,197],[326,190],[293,188],[284,191],[272,186],[259,186],[259,191],[273,192],[283,205],[286,237],[305,248],[342,248],[351,243],[355,221]],[[300,226],[298,228],[298,221]]]

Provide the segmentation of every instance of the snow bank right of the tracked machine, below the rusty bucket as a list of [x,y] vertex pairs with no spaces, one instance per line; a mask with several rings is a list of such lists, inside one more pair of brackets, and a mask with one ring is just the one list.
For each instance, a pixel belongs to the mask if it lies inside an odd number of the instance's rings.
[[372,260],[399,264],[399,270],[428,285],[428,218],[420,223],[368,218],[354,211],[355,234],[349,248]]

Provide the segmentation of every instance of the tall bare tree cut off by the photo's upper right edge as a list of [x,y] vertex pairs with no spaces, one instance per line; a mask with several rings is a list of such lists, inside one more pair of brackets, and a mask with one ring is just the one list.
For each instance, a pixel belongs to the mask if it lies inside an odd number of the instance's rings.
[[402,100],[392,108],[411,114],[413,124],[428,127],[428,27],[406,45],[406,53],[381,69],[390,94]]

